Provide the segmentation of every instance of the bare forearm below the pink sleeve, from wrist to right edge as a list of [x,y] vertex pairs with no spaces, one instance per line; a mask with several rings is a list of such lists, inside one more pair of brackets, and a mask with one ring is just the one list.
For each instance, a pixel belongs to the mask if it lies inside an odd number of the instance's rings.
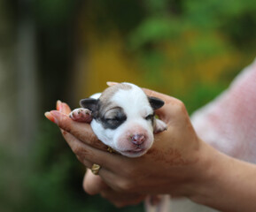
[[221,211],[256,210],[256,166],[203,145],[201,173],[190,199]]

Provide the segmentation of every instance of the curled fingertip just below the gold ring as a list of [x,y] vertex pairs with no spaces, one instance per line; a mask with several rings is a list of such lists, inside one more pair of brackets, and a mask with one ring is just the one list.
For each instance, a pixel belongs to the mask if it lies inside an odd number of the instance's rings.
[[106,189],[108,186],[100,176],[96,176],[91,170],[87,170],[83,178],[82,187],[86,193],[95,195]]

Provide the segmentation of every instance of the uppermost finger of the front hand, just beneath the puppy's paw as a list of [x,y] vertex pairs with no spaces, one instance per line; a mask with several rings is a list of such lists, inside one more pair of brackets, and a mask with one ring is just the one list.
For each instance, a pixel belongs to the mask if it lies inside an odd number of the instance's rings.
[[67,133],[71,133],[78,140],[89,144],[94,148],[100,148],[106,150],[107,147],[100,140],[97,139],[95,133],[93,133],[91,126],[87,123],[75,122],[66,114],[63,114],[57,110],[51,110],[45,113],[50,121],[57,124],[62,130]]

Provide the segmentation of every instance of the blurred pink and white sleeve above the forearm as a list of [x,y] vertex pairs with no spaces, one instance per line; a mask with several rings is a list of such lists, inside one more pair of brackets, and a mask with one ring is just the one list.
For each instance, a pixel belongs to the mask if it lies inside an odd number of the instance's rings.
[[213,102],[191,116],[198,136],[233,157],[256,163],[256,60]]

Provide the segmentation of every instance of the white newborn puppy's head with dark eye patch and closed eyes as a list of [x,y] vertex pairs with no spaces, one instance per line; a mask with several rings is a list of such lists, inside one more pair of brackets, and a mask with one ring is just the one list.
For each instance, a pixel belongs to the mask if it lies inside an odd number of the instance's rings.
[[91,127],[97,138],[129,157],[144,155],[151,148],[154,110],[163,105],[130,83],[108,87],[98,99],[81,100],[81,106],[92,111]]

